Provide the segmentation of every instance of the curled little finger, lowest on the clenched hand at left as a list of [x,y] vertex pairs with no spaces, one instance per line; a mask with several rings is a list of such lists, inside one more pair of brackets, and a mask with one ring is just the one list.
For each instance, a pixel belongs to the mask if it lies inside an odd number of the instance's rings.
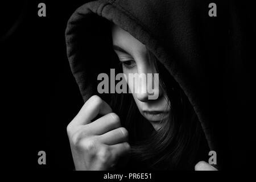
[[112,151],[112,155],[114,156],[113,160],[116,161],[121,156],[128,154],[130,149],[131,147],[127,142],[118,143],[110,146],[110,150]]

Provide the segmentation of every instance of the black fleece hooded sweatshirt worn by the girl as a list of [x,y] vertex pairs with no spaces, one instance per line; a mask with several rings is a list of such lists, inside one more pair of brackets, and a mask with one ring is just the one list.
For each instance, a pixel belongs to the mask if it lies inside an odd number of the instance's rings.
[[251,136],[241,121],[249,122],[252,110],[249,101],[253,64],[246,60],[255,60],[251,54],[255,24],[241,11],[240,6],[249,9],[244,3],[214,1],[217,16],[209,16],[211,2],[87,2],[68,20],[67,55],[86,102],[98,94],[97,75],[109,72],[112,66],[109,22],[117,24],[143,43],[183,89],[199,118],[210,151],[217,154],[216,167],[242,168],[251,143],[244,143],[243,138]]

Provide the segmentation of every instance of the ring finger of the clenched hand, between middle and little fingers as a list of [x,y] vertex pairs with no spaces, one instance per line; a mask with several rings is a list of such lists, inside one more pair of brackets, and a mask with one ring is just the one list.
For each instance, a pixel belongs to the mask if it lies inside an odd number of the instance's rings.
[[109,131],[99,136],[100,142],[108,145],[113,145],[128,140],[128,131],[124,127]]

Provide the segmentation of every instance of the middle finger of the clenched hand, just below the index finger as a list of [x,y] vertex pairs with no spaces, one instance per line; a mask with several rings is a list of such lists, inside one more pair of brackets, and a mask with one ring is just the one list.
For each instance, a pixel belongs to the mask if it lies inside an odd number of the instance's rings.
[[121,127],[120,119],[117,114],[109,113],[96,121],[86,125],[87,130],[93,132],[94,135],[102,135],[108,131],[112,131]]

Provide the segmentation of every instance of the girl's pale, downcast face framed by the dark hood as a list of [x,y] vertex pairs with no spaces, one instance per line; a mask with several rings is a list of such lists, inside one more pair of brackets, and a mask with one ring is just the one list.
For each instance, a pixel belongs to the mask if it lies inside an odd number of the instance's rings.
[[[143,88],[152,86],[151,83],[149,85],[143,79],[140,84],[136,84],[134,81],[128,79],[129,73],[144,73],[146,75],[152,73],[146,46],[131,36],[129,32],[116,25],[112,28],[112,39],[114,51],[122,63],[123,73],[127,76],[126,81],[129,89],[143,90]],[[155,130],[158,130],[161,127],[160,121],[168,118],[170,114],[170,104],[168,104],[169,101],[166,94],[159,86],[156,86],[153,90],[154,92],[158,92],[158,98],[156,100],[149,100],[148,92],[135,92],[132,94],[143,117],[150,121]]]

